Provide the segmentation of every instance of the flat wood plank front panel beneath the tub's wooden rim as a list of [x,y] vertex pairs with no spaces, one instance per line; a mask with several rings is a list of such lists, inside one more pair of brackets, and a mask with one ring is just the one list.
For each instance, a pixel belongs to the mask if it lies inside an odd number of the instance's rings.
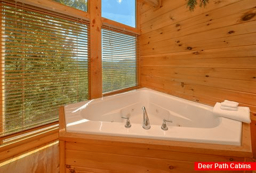
[[66,172],[196,172],[195,161],[245,161],[234,156],[143,149],[118,142],[98,143],[66,142]]

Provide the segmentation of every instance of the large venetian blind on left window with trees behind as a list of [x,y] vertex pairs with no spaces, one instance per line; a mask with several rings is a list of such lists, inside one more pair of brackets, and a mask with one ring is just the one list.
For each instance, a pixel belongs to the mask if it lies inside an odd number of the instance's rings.
[[89,23],[1,3],[0,136],[58,121],[60,105],[87,100]]

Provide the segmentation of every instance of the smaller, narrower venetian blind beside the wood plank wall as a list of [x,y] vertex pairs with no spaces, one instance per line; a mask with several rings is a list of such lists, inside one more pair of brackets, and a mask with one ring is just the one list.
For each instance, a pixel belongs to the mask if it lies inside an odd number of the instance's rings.
[[139,36],[102,27],[102,92],[138,86]]

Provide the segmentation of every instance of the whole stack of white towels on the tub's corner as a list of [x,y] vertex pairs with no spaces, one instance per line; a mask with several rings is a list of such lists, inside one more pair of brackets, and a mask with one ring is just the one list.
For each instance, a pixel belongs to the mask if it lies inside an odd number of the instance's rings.
[[238,106],[239,103],[225,100],[216,103],[213,108],[213,114],[220,117],[226,117],[237,121],[250,123],[250,108]]

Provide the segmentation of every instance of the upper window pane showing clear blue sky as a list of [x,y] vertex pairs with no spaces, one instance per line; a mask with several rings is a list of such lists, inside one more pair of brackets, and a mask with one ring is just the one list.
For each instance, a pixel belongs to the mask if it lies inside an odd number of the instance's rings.
[[102,17],[135,28],[135,2],[135,0],[102,0]]

